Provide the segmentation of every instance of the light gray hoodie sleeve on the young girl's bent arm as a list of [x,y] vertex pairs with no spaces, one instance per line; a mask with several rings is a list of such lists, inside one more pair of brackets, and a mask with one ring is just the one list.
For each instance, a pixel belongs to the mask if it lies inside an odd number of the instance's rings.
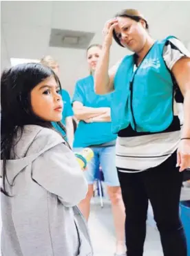
[[74,153],[64,143],[56,145],[32,163],[32,179],[56,194],[65,206],[85,199],[87,181]]

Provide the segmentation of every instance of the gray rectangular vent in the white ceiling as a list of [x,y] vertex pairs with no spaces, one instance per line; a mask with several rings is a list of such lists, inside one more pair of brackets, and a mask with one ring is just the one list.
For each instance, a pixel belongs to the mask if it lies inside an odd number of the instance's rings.
[[90,32],[52,28],[50,35],[50,46],[86,49],[92,41],[94,35],[94,33]]

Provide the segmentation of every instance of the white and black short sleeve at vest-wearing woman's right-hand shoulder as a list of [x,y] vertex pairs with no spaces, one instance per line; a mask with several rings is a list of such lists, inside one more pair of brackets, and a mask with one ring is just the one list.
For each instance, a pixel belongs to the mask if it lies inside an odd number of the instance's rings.
[[166,42],[163,51],[163,58],[170,71],[173,65],[184,56],[190,57],[190,53],[179,39],[171,38]]

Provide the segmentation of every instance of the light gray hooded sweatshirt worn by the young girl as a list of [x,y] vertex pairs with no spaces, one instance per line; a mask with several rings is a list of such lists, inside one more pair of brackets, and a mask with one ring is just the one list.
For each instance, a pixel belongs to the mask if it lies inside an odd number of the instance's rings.
[[52,129],[26,125],[14,152],[6,165],[12,197],[1,193],[2,256],[93,255],[76,207],[87,181],[63,138]]

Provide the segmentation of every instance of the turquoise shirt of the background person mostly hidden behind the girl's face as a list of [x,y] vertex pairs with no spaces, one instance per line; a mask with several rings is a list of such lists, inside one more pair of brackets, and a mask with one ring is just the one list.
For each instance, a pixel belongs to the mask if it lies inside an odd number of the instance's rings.
[[[66,125],[65,123],[65,119],[69,116],[74,116],[74,113],[72,111],[72,103],[71,103],[71,99],[70,99],[70,95],[69,93],[67,93],[67,91],[65,91],[64,89],[61,90],[61,96],[63,99],[63,113],[62,113],[62,124]],[[61,132],[61,134],[63,136],[65,136],[65,132],[59,127],[59,125],[56,124],[56,122],[52,122],[53,127]]]

